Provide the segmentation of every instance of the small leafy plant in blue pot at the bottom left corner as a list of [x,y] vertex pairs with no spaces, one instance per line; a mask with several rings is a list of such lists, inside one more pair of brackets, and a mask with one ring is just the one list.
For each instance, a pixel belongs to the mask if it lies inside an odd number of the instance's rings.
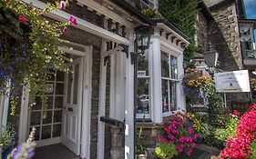
[[0,132],[0,145],[2,146],[2,159],[6,159],[15,144],[15,131],[11,125],[2,126]]

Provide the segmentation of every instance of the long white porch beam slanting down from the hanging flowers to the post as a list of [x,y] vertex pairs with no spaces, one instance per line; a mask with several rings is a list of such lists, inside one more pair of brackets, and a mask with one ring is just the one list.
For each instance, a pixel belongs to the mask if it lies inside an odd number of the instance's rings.
[[[38,0],[23,0],[27,4],[32,4],[40,9],[44,9],[46,4],[42,3]],[[91,1],[91,0],[90,0]],[[46,16],[54,18],[59,21],[68,21],[69,17],[71,16],[70,14],[67,14],[64,11],[57,10],[57,11],[52,11],[50,14],[47,14]],[[124,44],[124,45],[130,45],[130,41],[120,35],[116,35],[114,33],[109,32],[108,30],[101,28],[97,25],[93,25],[75,15],[72,15],[77,19],[77,25],[75,27],[84,30],[88,33],[91,33],[93,35],[98,35],[100,37],[106,38],[108,40]]]

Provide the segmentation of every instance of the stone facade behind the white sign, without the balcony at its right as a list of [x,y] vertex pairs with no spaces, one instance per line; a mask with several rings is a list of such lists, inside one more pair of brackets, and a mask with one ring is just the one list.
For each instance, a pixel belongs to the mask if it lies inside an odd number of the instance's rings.
[[[197,42],[206,52],[213,45],[219,54],[217,72],[246,69],[243,65],[239,17],[243,1],[204,0],[197,15]],[[249,102],[248,93],[227,93],[227,105]]]

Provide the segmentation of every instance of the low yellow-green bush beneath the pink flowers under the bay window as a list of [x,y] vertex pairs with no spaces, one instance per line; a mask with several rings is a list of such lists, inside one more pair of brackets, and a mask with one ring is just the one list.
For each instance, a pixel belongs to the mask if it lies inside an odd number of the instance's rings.
[[175,145],[171,143],[160,143],[155,148],[155,153],[161,159],[170,159],[177,155],[177,151],[175,150]]

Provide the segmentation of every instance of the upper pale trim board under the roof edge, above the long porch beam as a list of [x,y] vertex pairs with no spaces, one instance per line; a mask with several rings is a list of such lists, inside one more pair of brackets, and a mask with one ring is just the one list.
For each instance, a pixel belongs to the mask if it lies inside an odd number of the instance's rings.
[[[126,18],[115,14],[113,11],[109,10],[107,7],[103,5],[99,5],[97,2],[92,0],[77,0],[81,4],[87,5],[89,8],[96,10],[98,13],[102,15],[106,15],[107,17],[113,19],[118,22],[120,25],[126,25],[129,28],[133,27],[133,24],[129,22]],[[119,8],[118,8],[119,9]]]

